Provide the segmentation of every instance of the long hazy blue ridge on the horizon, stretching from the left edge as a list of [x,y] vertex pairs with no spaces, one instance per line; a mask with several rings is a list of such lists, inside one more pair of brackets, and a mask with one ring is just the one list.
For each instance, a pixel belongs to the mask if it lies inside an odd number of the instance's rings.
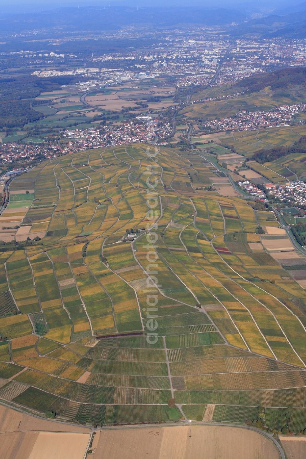
[[240,11],[206,7],[64,7],[51,11],[7,15],[0,19],[2,33],[34,29],[65,31],[119,30],[122,27],[172,28],[186,24],[226,25],[241,23],[248,16]]

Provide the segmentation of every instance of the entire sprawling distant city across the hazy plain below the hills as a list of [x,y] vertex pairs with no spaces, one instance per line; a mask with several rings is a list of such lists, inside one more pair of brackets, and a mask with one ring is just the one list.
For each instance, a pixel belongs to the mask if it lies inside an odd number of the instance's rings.
[[[114,33],[112,38],[129,39],[131,36],[131,32],[123,30]],[[135,33],[133,38],[140,36]],[[0,58],[9,57],[16,61],[16,66],[26,59],[34,70],[32,74],[39,78],[82,75],[94,76],[102,83],[111,84],[116,82],[115,78],[126,81],[126,73],[129,73],[130,80],[143,78],[143,75],[146,78],[165,75],[176,78],[177,84],[182,87],[210,83],[217,69],[218,75],[213,80],[216,86],[279,67],[306,65],[304,39],[249,37],[237,39],[233,46],[232,40],[225,38],[218,28],[213,27],[205,30],[193,28],[188,33],[173,30],[141,49],[135,47],[106,53],[78,52],[73,40],[71,51],[74,52],[67,52],[68,43],[69,40],[65,45],[65,53],[61,52],[59,41],[47,43],[46,49],[35,52],[2,52]],[[50,52],[48,46],[51,45]]]

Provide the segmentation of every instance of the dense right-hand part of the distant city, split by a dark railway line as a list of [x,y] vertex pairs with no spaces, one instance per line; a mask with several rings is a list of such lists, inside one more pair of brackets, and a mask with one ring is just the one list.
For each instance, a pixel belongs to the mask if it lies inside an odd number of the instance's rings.
[[238,39],[237,45],[232,49],[231,46],[223,37],[211,39],[205,34],[202,37],[198,34],[196,39],[170,36],[155,53],[144,56],[145,64],[138,66],[176,77],[176,84],[186,87],[211,83],[219,66],[212,83],[215,86],[279,67],[306,65],[303,39]]

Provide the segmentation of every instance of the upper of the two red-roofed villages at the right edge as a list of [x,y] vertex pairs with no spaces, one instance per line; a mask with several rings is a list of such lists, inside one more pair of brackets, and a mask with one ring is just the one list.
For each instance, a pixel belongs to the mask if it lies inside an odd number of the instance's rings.
[[[232,117],[215,118],[213,120],[204,120],[202,125],[204,129],[210,131],[227,131],[238,130],[248,131],[255,129],[274,128],[279,126],[289,126],[292,118],[298,113],[306,110],[306,104],[283,105],[278,106],[271,112],[246,112],[241,111]],[[304,120],[295,119],[295,124],[302,124]]]

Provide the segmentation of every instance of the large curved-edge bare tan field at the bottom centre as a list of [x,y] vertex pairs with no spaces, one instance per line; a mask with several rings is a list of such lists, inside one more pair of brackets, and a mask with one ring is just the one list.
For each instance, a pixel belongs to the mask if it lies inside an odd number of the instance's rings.
[[102,431],[94,459],[278,459],[278,449],[263,435],[210,425],[148,427]]

